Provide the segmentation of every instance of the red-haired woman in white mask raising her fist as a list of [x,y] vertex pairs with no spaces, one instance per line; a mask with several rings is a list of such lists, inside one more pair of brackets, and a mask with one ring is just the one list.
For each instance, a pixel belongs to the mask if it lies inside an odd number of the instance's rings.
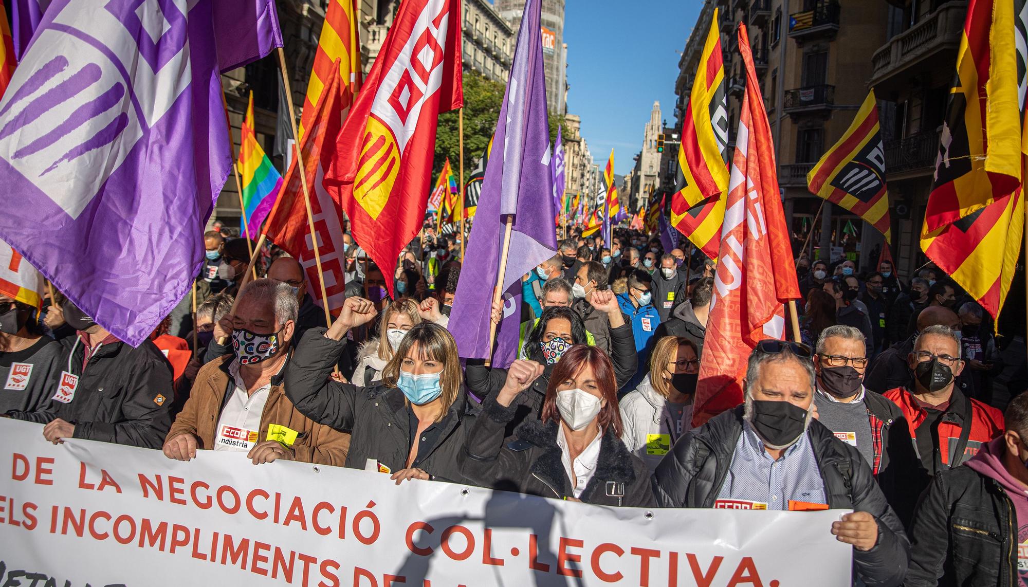
[[576,344],[557,362],[542,419],[525,418],[505,443],[504,430],[522,392],[543,374],[535,361],[515,361],[500,393],[488,397],[457,456],[461,473],[479,485],[589,504],[652,507],[650,473],[621,442],[614,365],[595,346]]

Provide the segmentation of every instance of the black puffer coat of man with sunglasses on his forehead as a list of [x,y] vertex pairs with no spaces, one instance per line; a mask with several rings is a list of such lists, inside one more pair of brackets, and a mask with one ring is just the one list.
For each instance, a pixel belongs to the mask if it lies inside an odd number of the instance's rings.
[[[712,507],[741,434],[739,406],[680,438],[653,474],[653,492],[659,507]],[[869,586],[900,585],[907,573],[910,541],[871,469],[855,446],[836,438],[819,421],[810,423],[807,435],[824,482],[829,508],[868,512],[878,521],[878,543],[874,548],[867,552],[853,549],[855,573]]]

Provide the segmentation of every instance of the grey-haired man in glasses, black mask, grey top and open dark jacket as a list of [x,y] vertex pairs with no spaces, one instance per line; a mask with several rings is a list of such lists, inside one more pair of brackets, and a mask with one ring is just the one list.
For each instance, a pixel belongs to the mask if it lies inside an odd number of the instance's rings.
[[821,331],[814,353],[818,420],[836,438],[855,446],[878,479],[889,505],[910,521],[917,493],[909,491],[917,455],[900,408],[861,383],[868,368],[864,334],[851,326]]

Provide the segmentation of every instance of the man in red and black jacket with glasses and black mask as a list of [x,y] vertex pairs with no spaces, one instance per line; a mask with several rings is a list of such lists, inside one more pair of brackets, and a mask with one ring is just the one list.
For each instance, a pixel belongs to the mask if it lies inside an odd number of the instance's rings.
[[918,334],[908,357],[914,388],[896,388],[884,395],[907,418],[910,438],[929,478],[975,456],[983,444],[1003,433],[1003,414],[963,395],[955,384],[963,371],[960,339],[945,326],[929,326]]

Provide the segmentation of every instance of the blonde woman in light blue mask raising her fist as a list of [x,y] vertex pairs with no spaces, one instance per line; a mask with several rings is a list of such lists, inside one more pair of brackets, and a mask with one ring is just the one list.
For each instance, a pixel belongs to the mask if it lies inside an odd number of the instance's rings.
[[[462,482],[457,465],[474,420],[450,333],[432,322],[404,335],[381,381],[358,387],[330,377],[346,332],[370,322],[374,303],[347,298],[328,330],[310,329],[286,367],[286,395],[310,419],[352,433],[346,467],[372,468],[405,479]],[[384,322],[384,321],[383,321]]]

